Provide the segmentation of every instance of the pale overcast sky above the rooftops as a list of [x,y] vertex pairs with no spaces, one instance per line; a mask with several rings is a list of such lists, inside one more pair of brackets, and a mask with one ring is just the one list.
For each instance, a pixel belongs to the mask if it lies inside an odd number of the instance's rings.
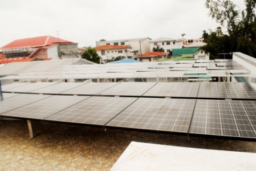
[[[243,0],[233,0],[244,10]],[[100,39],[199,38],[218,23],[205,0],[1,0],[0,47],[20,38],[55,36],[95,46]]]

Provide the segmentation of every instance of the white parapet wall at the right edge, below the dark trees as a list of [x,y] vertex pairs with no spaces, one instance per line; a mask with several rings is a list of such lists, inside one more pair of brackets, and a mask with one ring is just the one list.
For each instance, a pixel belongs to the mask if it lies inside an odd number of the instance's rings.
[[256,83],[251,82],[251,79],[256,78],[256,58],[244,53],[234,52],[233,60],[249,71],[248,83],[256,90]]

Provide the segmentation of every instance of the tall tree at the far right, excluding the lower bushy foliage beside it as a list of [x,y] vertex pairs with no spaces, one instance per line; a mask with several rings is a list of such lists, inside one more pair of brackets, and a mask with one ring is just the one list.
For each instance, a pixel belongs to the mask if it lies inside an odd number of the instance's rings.
[[240,51],[256,57],[255,0],[244,0],[246,9],[240,12],[231,0],[206,0],[209,15],[220,25],[227,25],[231,52]]

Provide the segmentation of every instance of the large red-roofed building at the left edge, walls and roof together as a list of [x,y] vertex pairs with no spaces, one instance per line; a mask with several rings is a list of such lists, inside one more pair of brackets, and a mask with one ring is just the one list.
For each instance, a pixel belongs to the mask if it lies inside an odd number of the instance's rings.
[[60,60],[65,55],[78,53],[77,43],[53,36],[40,36],[14,40],[0,48],[0,64],[33,60]]

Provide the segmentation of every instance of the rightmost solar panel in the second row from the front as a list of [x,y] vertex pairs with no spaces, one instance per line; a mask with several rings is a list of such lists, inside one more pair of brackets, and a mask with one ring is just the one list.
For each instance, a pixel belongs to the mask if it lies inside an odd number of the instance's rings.
[[248,83],[201,83],[198,97],[256,99],[256,92]]

